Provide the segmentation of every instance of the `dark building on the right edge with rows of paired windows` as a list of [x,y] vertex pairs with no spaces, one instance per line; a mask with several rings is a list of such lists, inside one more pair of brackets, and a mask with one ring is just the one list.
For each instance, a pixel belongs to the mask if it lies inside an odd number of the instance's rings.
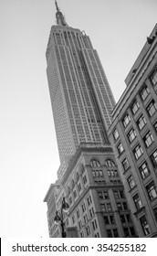
[[110,142],[140,237],[157,237],[157,25],[113,113]]

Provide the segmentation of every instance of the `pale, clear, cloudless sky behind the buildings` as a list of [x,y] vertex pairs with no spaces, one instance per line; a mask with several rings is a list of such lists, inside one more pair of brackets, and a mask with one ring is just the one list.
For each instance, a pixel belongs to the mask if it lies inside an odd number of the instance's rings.
[[[68,26],[89,35],[116,101],[157,22],[156,0],[58,0]],[[58,146],[45,53],[55,0],[0,1],[0,237],[48,238],[47,189]]]

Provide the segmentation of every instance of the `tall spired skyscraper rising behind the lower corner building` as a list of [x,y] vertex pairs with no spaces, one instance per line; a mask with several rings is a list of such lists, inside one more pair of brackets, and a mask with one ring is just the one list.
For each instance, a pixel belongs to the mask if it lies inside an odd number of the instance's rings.
[[57,7],[47,44],[47,80],[62,163],[83,143],[109,144],[115,101],[89,37],[68,27]]

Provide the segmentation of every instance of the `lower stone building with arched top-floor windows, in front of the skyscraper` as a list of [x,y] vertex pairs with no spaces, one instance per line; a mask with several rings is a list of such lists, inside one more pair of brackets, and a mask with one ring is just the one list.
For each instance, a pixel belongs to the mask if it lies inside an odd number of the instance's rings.
[[49,237],[61,237],[61,229],[54,218],[63,197],[69,206],[64,215],[65,229],[76,227],[79,238],[137,237],[110,145],[79,144],[58,183],[56,197],[57,184],[50,186],[44,199],[48,208]]

